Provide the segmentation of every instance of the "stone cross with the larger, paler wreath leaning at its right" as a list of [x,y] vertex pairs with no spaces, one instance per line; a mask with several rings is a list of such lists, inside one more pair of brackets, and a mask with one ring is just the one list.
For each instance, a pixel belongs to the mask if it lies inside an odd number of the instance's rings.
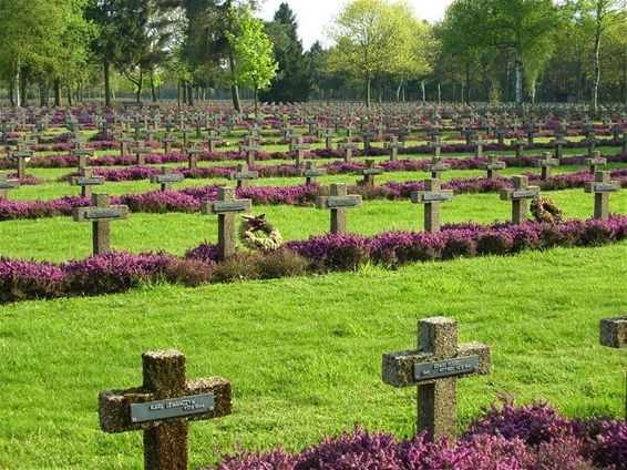
[[234,187],[220,187],[218,200],[203,201],[202,213],[218,216],[218,252],[220,259],[227,259],[235,254],[235,214],[250,213],[250,200],[236,200]]

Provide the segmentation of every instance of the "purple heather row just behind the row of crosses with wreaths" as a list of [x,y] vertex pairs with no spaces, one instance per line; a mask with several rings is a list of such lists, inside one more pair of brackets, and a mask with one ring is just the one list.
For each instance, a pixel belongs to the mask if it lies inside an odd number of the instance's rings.
[[[137,167],[137,171],[143,171]],[[152,170],[152,168],[150,168]],[[155,170],[154,173],[157,173]],[[627,186],[627,168],[610,172],[611,177]],[[536,173],[527,174],[530,181],[538,185],[542,191],[559,191],[582,188],[586,182],[594,181],[594,176],[586,171],[553,176],[541,181]],[[193,213],[201,208],[203,201],[216,201],[219,184],[203,187],[187,187],[174,192],[151,191],[147,193],[130,193],[122,196],[112,196],[112,204],[126,204],[131,212],[143,213]],[[443,190],[452,190],[455,194],[494,193],[503,187],[512,187],[512,181],[504,177],[489,180],[485,177],[455,178],[442,183]],[[409,198],[412,191],[424,190],[422,181],[388,182],[379,186],[353,185],[349,191],[360,194],[364,200],[398,200]],[[327,195],[326,186],[249,186],[237,190],[241,198],[249,198],[255,205],[311,205],[317,196]],[[0,200],[0,221],[19,218],[42,218],[70,215],[73,207],[83,207],[91,202],[79,196],[63,196],[48,201],[12,201]]]

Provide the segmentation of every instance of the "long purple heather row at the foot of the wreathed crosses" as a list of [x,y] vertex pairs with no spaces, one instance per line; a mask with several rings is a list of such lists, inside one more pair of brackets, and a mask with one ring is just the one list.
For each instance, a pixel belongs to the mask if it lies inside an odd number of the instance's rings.
[[226,262],[218,262],[217,248],[210,244],[189,249],[183,258],[164,253],[112,253],[60,265],[0,258],[0,303],[124,292],[142,282],[197,286],[356,269],[369,262],[395,267],[555,246],[600,246],[626,238],[627,216],[613,216],[608,222],[568,221],[559,225],[455,224],[444,226],[439,234],[326,234],[288,242],[270,254],[240,252]]

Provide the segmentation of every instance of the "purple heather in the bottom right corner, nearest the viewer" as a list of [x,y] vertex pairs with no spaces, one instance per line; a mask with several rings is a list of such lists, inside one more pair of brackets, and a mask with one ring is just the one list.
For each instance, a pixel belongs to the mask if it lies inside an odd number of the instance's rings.
[[584,470],[627,469],[627,423],[561,417],[546,403],[504,401],[472,423],[455,445],[423,435],[398,439],[387,432],[351,432],[322,439],[300,452],[223,456],[204,470]]

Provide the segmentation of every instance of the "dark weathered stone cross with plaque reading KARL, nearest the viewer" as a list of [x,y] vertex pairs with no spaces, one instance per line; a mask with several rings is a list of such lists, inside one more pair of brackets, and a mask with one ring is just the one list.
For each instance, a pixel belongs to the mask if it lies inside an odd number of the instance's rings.
[[142,355],[143,384],[99,395],[103,431],[144,431],[144,469],[187,470],[189,421],[230,415],[230,384],[222,377],[187,380],[177,350]]

